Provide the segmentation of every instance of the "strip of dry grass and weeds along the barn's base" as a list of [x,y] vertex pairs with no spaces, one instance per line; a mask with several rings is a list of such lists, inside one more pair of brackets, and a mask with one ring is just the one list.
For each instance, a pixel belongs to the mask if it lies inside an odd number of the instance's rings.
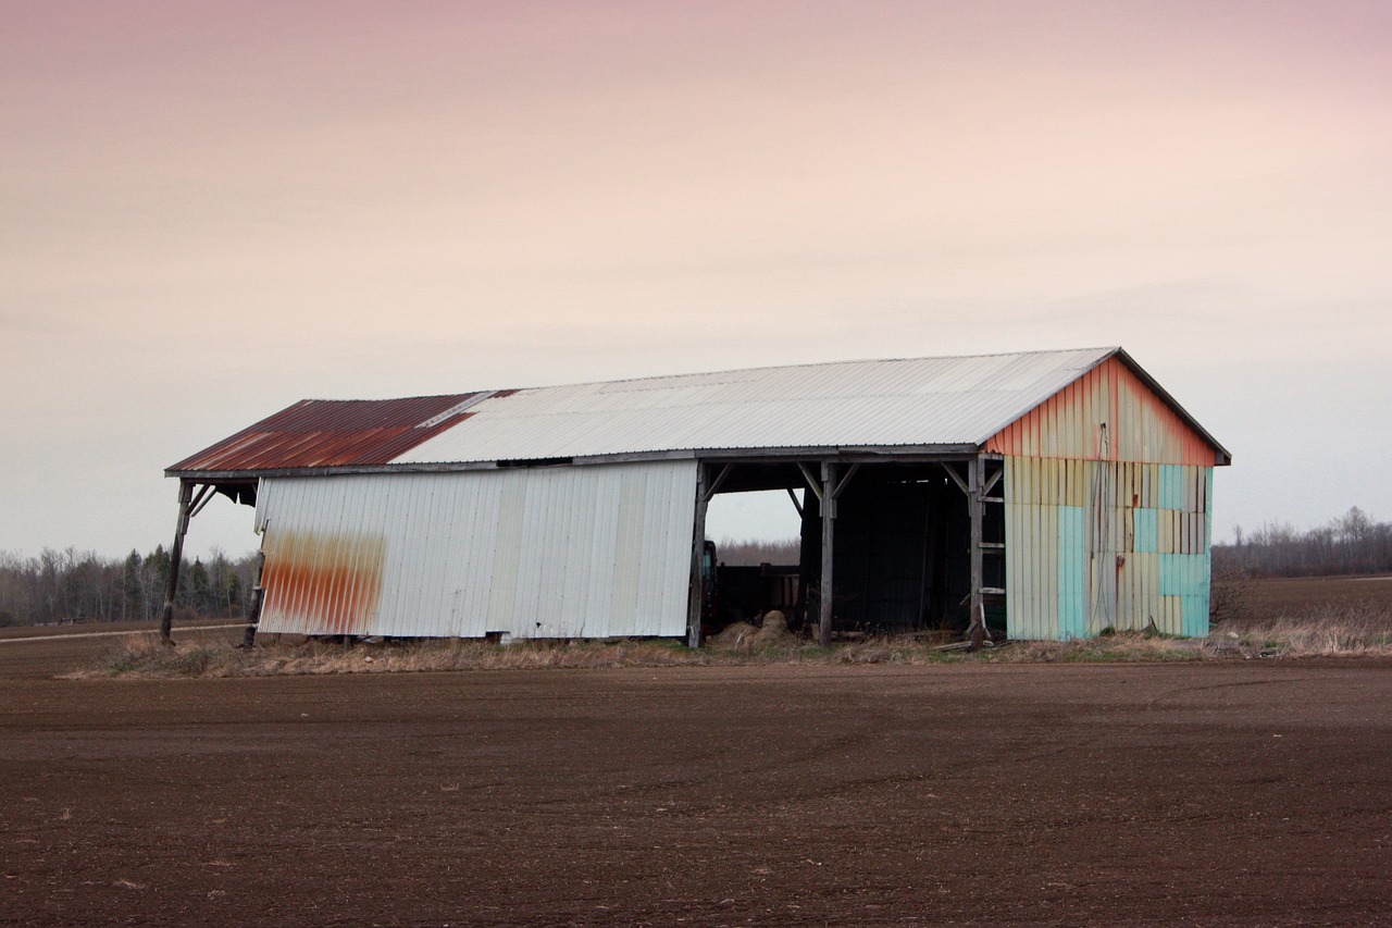
[[230,644],[181,642],[164,647],[152,635],[132,635],[96,666],[71,677],[256,677],[324,673],[418,673],[441,670],[519,670],[539,667],[677,667],[735,665],[934,665],[1171,662],[1251,658],[1392,656],[1392,614],[1386,610],[1329,606],[1303,619],[1281,619],[1228,630],[1208,638],[1122,633],[1075,641],[1019,641],[976,654],[947,648],[931,635],[866,638],[818,648],[785,637],[750,647],[743,637],[692,651],[674,641],[516,641],[503,647],[477,640],[413,644],[359,644],[345,648],[305,640]]

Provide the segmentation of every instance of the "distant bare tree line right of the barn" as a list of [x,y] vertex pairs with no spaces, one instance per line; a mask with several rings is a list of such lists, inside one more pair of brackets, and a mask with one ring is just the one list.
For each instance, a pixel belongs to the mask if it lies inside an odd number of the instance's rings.
[[1212,563],[1215,574],[1253,577],[1392,573],[1392,523],[1375,523],[1354,506],[1308,531],[1289,523],[1267,523],[1251,532],[1237,527],[1231,545],[1214,545]]

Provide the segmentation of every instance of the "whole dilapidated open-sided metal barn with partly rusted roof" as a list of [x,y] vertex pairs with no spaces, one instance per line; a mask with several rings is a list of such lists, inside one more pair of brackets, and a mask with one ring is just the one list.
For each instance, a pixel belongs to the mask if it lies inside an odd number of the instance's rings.
[[697,645],[707,506],[753,490],[800,513],[823,641],[1207,634],[1229,463],[1086,348],[305,400],[166,475],[177,550],[213,493],[255,506],[262,631]]

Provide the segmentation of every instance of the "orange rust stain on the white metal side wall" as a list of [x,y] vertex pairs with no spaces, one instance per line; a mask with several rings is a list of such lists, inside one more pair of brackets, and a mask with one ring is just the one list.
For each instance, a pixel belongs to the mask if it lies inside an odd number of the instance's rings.
[[367,634],[386,556],[381,535],[278,532],[266,550],[266,610],[303,634]]

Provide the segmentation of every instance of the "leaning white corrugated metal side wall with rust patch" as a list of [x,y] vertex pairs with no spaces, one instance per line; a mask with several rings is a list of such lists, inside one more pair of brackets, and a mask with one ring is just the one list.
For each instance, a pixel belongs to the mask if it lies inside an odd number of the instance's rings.
[[696,463],[263,478],[269,633],[681,635]]

